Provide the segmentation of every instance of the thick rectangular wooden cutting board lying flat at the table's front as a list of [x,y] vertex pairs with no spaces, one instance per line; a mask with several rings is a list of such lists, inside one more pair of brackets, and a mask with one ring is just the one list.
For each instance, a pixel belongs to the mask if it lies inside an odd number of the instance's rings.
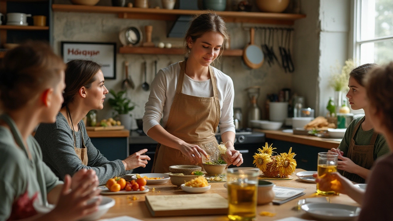
[[228,214],[228,200],[217,193],[148,195],[145,203],[152,216]]

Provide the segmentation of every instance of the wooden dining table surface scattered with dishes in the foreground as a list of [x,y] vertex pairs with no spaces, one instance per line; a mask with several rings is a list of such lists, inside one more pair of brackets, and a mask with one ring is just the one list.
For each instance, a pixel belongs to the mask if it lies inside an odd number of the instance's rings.
[[[296,177],[296,173],[299,171],[304,171],[303,169],[296,169],[296,171],[292,174],[294,179],[292,180],[270,180],[274,182],[277,186],[286,186],[286,187],[294,187],[294,188],[304,188],[305,195],[298,197],[292,201],[281,205],[273,205],[272,203],[258,206],[257,207],[257,220],[263,221],[270,221],[276,219],[282,219],[285,217],[295,216],[301,217],[303,219],[312,219],[309,215],[305,214],[302,210],[297,211],[292,209],[296,206],[299,199],[305,199],[308,197],[323,197],[316,194],[316,184],[315,183],[308,183],[302,182],[300,179]],[[211,189],[206,193],[218,193],[225,198],[228,198],[228,191],[224,187],[225,182],[211,182]],[[174,195],[174,194],[192,194],[184,192],[180,189],[180,187],[174,186],[171,182],[167,182],[165,184],[157,184],[157,185],[149,185],[149,188],[155,188],[155,193],[150,190],[148,193],[145,194],[130,194],[130,195],[110,195],[115,201],[116,204],[114,207],[110,208],[110,210],[105,214],[102,218],[111,218],[117,217],[122,215],[128,215],[131,217],[135,217],[141,220],[187,220],[187,221],[205,221],[205,220],[214,220],[214,221],[228,221],[228,217],[226,215],[209,215],[209,216],[171,216],[171,217],[152,217],[149,210],[145,204],[145,195]],[[160,193],[158,193],[160,191]],[[204,193],[201,193],[204,194]],[[139,197],[139,199],[132,201],[132,196]],[[358,206],[358,204],[347,195],[331,195],[329,196],[331,199],[331,203],[341,203],[341,204],[349,204]],[[260,212],[267,211],[276,213],[274,217],[267,217],[259,215]]]

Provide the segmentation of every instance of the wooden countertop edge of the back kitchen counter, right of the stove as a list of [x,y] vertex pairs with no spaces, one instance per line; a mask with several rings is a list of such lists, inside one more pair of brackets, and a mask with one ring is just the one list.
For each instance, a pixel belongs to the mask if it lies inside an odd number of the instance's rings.
[[282,131],[270,131],[262,129],[253,129],[254,131],[265,133],[266,138],[283,140],[287,142],[293,142],[298,144],[305,144],[315,147],[321,147],[325,149],[337,148],[340,144],[339,141],[329,138],[320,138],[312,135],[296,135],[291,133],[283,133]]

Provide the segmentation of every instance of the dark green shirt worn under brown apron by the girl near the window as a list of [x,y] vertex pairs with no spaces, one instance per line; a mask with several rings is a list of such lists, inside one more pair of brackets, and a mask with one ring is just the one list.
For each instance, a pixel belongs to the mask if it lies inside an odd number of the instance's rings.
[[[355,131],[354,131],[355,126],[362,119],[363,119],[363,117],[355,118],[349,124],[347,131],[345,131],[344,138],[341,141],[340,145],[338,146],[338,148],[344,152],[344,155],[343,155],[344,157],[347,157],[349,144],[351,143],[352,134],[355,133]],[[353,139],[355,140],[355,144],[356,145],[369,145],[370,141],[371,141],[371,137],[373,136],[373,133],[374,133],[374,129],[371,129],[369,131],[364,131],[362,129],[362,125],[360,125],[358,128],[358,131],[356,132],[355,136],[353,137]],[[378,134],[378,136],[376,136],[376,140],[375,140],[375,144],[374,144],[374,160],[376,160],[376,158],[381,157],[382,155],[385,155],[387,153],[390,153],[389,146],[387,145],[384,136],[382,136],[381,134]]]

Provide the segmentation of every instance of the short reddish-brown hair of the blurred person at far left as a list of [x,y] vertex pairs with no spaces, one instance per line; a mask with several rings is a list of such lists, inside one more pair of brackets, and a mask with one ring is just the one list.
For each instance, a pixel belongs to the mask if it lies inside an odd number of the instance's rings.
[[28,41],[9,50],[0,64],[2,109],[20,109],[43,90],[56,87],[65,67],[44,42]]

